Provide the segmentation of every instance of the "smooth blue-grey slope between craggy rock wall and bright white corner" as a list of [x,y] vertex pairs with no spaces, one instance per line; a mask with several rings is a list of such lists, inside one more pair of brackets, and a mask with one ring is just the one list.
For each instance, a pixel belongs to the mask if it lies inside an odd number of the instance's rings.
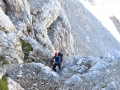
[[[120,43],[114,38],[111,32],[109,32],[106,27],[102,25],[103,23],[81,4],[81,2],[87,2],[87,0],[59,1],[61,1],[67,18],[70,21],[76,54],[83,56],[100,56],[113,49],[120,50]],[[96,10],[96,8],[94,9]],[[110,10],[108,9],[108,11]],[[106,20],[106,18],[104,18],[104,20]],[[110,22],[109,19],[106,24]],[[111,26],[111,24],[109,26]],[[113,29],[111,28],[111,30]]]

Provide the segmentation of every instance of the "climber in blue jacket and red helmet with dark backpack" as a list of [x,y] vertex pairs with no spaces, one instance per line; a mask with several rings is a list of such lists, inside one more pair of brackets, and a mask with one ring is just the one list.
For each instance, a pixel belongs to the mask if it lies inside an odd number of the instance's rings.
[[53,70],[56,72],[56,66],[59,67],[59,70],[61,69],[61,60],[60,56],[58,56],[58,52],[55,52],[55,56],[52,58],[52,60],[55,59],[55,63],[53,65]]

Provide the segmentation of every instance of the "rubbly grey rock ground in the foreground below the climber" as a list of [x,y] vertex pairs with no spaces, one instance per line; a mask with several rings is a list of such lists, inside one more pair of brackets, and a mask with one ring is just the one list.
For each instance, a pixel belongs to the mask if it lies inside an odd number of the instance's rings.
[[57,73],[41,63],[0,70],[7,73],[10,90],[120,90],[119,65],[120,51],[111,51],[103,57],[75,56]]

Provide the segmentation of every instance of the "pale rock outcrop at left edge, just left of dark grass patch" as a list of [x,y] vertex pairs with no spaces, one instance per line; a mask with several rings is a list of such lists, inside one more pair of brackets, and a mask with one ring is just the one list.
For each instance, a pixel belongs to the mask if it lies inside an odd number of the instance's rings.
[[[6,34],[0,31],[0,54],[6,56],[9,63],[17,62],[22,63],[24,54],[22,52],[21,43],[15,33]],[[15,61],[14,61],[15,60]]]

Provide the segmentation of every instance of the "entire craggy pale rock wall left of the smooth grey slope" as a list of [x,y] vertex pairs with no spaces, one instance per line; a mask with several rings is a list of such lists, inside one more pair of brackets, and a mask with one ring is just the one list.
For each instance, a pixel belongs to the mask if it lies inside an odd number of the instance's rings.
[[46,61],[59,50],[67,56],[74,54],[71,26],[58,0],[3,0],[0,7],[0,30],[6,33],[4,43],[13,48],[1,48],[8,60],[23,62],[23,43],[19,38],[32,46],[27,57],[34,61],[36,57],[36,61]]

